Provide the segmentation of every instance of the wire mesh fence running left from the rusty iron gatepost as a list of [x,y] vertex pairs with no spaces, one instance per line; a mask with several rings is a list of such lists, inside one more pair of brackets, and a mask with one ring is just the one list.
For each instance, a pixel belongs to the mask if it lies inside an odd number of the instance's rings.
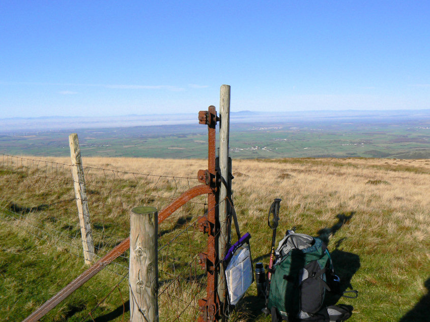
[[[82,257],[83,263],[71,167],[0,154],[0,218],[5,222],[13,221],[25,233],[46,240],[71,256]],[[129,236],[129,211],[133,207],[148,205],[161,210],[198,184],[196,178],[190,177],[95,167],[83,167],[83,170],[96,260]],[[197,216],[207,210],[206,197],[200,196],[159,226],[160,320],[186,321],[198,317],[197,301],[206,296],[206,274],[198,265],[198,253],[205,250],[207,236],[198,231]],[[89,320],[106,313],[102,304],[113,297],[124,318],[130,300],[128,256],[128,252],[122,254],[105,269],[111,276],[108,292],[106,287],[93,287],[92,292],[103,294],[97,294],[102,300],[93,308],[85,308],[91,309]]]

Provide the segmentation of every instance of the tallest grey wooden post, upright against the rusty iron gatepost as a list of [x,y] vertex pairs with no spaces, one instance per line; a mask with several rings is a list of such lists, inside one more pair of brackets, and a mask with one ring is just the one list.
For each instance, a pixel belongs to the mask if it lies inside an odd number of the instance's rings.
[[[221,170],[221,177],[225,179],[225,182],[231,182],[229,173],[231,173],[231,169],[229,169],[228,164],[228,135],[230,131],[230,85],[222,85],[220,89],[219,95],[219,116],[220,116],[220,125],[219,125],[219,168]],[[227,239],[228,239],[228,230],[227,230],[227,214],[228,214],[228,201],[225,198],[228,196],[227,188],[221,184],[221,188],[219,191],[219,207],[218,207],[218,218],[220,224],[220,232],[218,238],[218,254],[219,256],[223,256],[227,250]],[[224,308],[221,319],[225,320],[224,312],[227,308],[227,299],[226,299],[226,281],[224,268],[222,265],[219,266],[219,283],[218,283],[218,297],[221,302],[221,307]]]

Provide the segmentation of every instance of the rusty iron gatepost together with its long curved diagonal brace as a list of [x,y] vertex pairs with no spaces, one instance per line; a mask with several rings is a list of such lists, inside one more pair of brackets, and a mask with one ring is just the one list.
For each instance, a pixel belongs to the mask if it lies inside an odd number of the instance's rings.
[[[208,212],[198,218],[199,231],[208,235],[208,244],[206,252],[199,253],[199,263],[207,273],[207,296],[198,301],[200,316],[198,321],[216,321],[221,317],[222,307],[217,294],[218,271],[219,271],[219,254],[218,254],[218,234],[219,220],[217,218],[217,201],[216,193],[219,191],[220,180],[215,170],[215,136],[217,117],[214,106],[210,106],[208,111],[198,113],[199,124],[208,125],[208,169],[199,170],[197,173],[198,181],[203,184],[197,185],[175,199],[166,208],[162,209],[158,215],[158,223],[169,217],[178,208],[183,206],[191,199],[208,195]],[[109,265],[114,259],[123,254],[130,248],[130,238],[126,238],[118,246],[103,256],[97,263],[92,265],[88,270],[76,277],[72,282],[65,286],[59,293],[46,301],[36,311],[24,319],[24,321],[37,321],[46,313],[61,303],[76,289],[87,282],[91,277],[100,272]]]

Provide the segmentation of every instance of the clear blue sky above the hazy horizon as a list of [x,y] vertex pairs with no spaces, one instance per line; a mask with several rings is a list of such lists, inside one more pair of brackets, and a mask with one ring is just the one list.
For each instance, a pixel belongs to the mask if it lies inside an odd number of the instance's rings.
[[0,118],[430,108],[429,1],[0,2]]

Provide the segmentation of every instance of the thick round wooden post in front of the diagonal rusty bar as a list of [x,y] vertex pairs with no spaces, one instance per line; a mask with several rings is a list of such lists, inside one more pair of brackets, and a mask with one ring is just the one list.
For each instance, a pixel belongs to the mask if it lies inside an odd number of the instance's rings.
[[136,207],[130,213],[131,322],[158,321],[158,212]]

